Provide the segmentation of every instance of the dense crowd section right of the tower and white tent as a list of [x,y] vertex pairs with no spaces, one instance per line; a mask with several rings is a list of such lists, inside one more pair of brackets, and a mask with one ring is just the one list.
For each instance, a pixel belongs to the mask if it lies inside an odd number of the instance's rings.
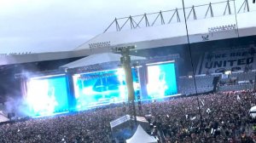
[[151,109],[151,120],[163,131],[165,142],[256,142],[249,113],[256,105],[253,92],[197,97],[155,102],[143,109]]

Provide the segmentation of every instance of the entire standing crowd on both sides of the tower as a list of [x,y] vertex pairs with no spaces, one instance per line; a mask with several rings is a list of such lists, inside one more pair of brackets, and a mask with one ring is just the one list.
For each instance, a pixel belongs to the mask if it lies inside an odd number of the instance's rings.
[[[240,91],[143,103],[140,113],[150,115],[163,142],[255,142],[249,115],[255,105],[252,91]],[[115,106],[5,123],[0,142],[112,142],[109,123],[125,114],[124,106]]]

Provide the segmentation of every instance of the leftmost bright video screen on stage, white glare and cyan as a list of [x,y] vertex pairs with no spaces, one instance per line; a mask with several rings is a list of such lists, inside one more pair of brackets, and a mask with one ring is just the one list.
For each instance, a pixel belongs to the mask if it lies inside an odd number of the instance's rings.
[[31,116],[48,116],[68,111],[67,78],[31,78],[27,83],[26,103]]

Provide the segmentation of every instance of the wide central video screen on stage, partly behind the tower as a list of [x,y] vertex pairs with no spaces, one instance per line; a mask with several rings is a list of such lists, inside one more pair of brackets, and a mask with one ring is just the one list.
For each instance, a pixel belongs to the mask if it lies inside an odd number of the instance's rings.
[[[135,74],[132,70],[133,75]],[[135,77],[135,76],[133,76]],[[137,90],[138,83],[134,80]],[[128,99],[123,69],[91,72],[73,76],[77,110],[122,102]]]

